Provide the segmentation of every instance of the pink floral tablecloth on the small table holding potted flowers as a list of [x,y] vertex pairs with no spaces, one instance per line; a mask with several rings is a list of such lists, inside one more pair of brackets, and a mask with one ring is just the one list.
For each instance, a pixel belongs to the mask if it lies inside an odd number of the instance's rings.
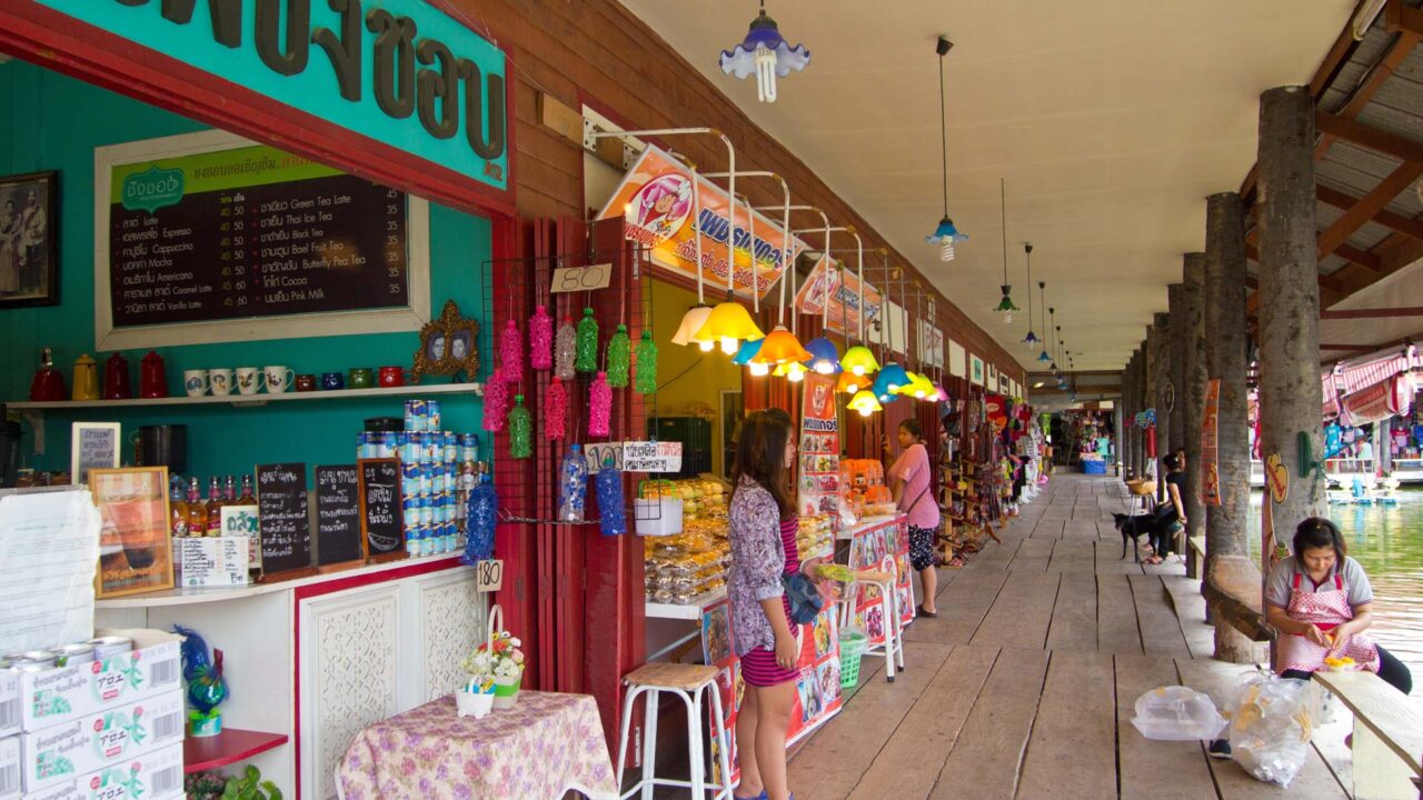
[[361,730],[336,767],[346,800],[558,800],[618,796],[598,703],[588,695],[519,692],[484,719],[440,698]]

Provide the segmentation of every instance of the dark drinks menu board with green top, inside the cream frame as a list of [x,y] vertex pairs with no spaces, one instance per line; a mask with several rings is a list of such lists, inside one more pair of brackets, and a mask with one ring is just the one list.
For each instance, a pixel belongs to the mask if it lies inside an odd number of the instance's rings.
[[115,327],[406,307],[407,198],[269,147],[115,167]]

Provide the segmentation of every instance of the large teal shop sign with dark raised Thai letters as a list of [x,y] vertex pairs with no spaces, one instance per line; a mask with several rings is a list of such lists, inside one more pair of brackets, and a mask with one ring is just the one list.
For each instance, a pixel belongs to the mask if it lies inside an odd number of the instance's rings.
[[504,53],[428,0],[34,0],[507,189]]

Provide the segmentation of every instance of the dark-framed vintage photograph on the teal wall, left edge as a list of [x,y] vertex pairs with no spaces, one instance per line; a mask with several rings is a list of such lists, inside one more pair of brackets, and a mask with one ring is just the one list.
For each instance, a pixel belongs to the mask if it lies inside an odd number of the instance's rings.
[[60,174],[0,178],[0,309],[60,302]]

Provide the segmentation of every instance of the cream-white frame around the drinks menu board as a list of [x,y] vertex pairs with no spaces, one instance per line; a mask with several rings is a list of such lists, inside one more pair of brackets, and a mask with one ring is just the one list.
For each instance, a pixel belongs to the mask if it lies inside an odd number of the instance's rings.
[[404,307],[114,327],[110,279],[110,189],[114,167],[259,144],[262,142],[228,131],[201,131],[94,148],[94,340],[100,350],[404,333],[420,330],[430,322],[430,204],[406,195],[406,295],[410,303]]

